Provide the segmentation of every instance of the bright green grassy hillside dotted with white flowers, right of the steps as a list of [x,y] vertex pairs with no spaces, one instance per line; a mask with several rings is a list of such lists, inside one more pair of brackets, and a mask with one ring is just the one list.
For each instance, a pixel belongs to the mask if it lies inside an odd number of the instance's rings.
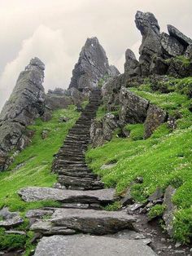
[[[149,85],[131,90],[177,117],[177,129],[171,131],[163,124],[150,139],[143,140],[143,125],[128,125],[130,138],[114,136],[102,147],[90,149],[87,161],[94,172],[103,177],[106,186],[116,188],[120,194],[134,179],[142,177],[143,183],[133,185],[132,194],[136,201],[145,201],[156,188],[165,189],[169,184],[177,188],[173,197],[178,209],[174,220],[174,238],[189,242],[192,236],[191,99],[181,95],[179,90],[161,94]],[[101,169],[101,166],[111,162],[116,162],[116,166]]]

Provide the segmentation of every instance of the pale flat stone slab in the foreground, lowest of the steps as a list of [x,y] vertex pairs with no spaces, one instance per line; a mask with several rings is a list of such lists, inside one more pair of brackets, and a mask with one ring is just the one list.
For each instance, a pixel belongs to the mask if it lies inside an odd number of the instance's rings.
[[107,236],[50,236],[43,237],[34,256],[155,256],[143,241]]

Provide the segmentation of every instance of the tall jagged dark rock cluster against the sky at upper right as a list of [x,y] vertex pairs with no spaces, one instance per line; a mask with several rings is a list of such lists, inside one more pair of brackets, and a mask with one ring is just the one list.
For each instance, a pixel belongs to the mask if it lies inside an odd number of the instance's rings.
[[[183,65],[177,65],[175,71],[169,68],[175,57],[185,55],[190,59],[192,40],[172,25],[168,25],[168,33],[160,33],[158,21],[151,12],[137,11],[135,16],[137,29],[142,33],[142,45],[139,48],[139,62],[132,51],[126,52],[124,77],[147,77],[153,74],[172,75],[174,77],[190,76],[190,71],[183,73]],[[167,61],[173,58],[172,62]],[[191,66],[190,68],[191,69]],[[178,75],[177,75],[178,70]]]

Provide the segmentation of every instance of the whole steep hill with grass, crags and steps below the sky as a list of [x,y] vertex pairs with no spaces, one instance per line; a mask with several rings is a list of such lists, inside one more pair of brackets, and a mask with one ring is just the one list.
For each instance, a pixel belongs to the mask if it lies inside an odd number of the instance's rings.
[[191,254],[192,40],[135,23],[122,74],[97,38],[68,90],[45,93],[37,58],[20,73],[0,115],[0,254]]

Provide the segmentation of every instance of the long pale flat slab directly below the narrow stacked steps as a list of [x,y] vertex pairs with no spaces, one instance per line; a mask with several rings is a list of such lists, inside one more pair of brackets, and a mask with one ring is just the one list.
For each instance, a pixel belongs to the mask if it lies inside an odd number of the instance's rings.
[[94,191],[73,191],[58,188],[22,188],[18,192],[24,201],[61,201],[66,203],[89,203],[106,205],[116,200],[116,191],[113,188]]

